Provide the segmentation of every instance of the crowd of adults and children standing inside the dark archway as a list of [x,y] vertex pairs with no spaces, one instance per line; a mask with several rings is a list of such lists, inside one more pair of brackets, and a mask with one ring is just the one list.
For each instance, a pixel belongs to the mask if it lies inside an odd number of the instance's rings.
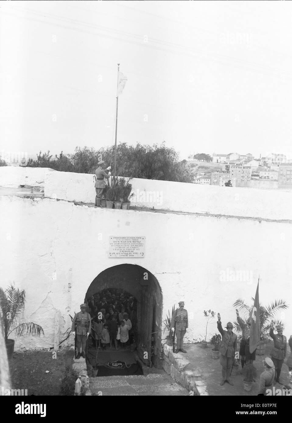
[[126,349],[137,341],[137,301],[127,291],[105,289],[87,300],[95,346]]

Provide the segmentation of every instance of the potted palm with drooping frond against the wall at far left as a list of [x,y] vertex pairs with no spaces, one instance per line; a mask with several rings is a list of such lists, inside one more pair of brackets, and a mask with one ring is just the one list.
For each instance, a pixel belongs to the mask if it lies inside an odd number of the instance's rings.
[[5,335],[5,343],[8,359],[12,358],[14,352],[14,339],[8,336],[15,331],[17,336],[21,335],[44,335],[43,328],[36,323],[19,323],[19,317],[25,308],[25,290],[19,291],[14,285],[8,286],[6,291],[0,288],[0,308],[2,324]]

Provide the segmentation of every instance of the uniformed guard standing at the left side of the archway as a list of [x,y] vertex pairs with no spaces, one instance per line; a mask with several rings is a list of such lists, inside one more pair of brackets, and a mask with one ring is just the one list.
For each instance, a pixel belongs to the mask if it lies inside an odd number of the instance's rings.
[[80,305],[80,312],[76,313],[72,321],[72,333],[75,335],[75,322],[76,322],[76,335],[77,335],[77,358],[80,358],[80,346],[81,355],[85,358],[85,345],[86,340],[91,331],[91,317],[86,312],[86,304]]

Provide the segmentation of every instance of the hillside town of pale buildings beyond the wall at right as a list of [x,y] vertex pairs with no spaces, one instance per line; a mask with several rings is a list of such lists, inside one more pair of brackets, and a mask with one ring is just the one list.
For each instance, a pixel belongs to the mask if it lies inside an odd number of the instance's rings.
[[196,184],[223,187],[231,181],[232,187],[292,189],[292,159],[285,154],[255,158],[251,153],[214,153],[211,159],[209,163],[200,162],[198,170],[202,171],[195,176]]

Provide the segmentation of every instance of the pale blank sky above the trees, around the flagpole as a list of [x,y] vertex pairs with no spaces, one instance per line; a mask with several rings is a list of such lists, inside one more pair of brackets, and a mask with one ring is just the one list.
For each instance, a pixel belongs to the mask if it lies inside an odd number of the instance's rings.
[[0,4],[0,150],[118,142],[292,158],[292,2]]

